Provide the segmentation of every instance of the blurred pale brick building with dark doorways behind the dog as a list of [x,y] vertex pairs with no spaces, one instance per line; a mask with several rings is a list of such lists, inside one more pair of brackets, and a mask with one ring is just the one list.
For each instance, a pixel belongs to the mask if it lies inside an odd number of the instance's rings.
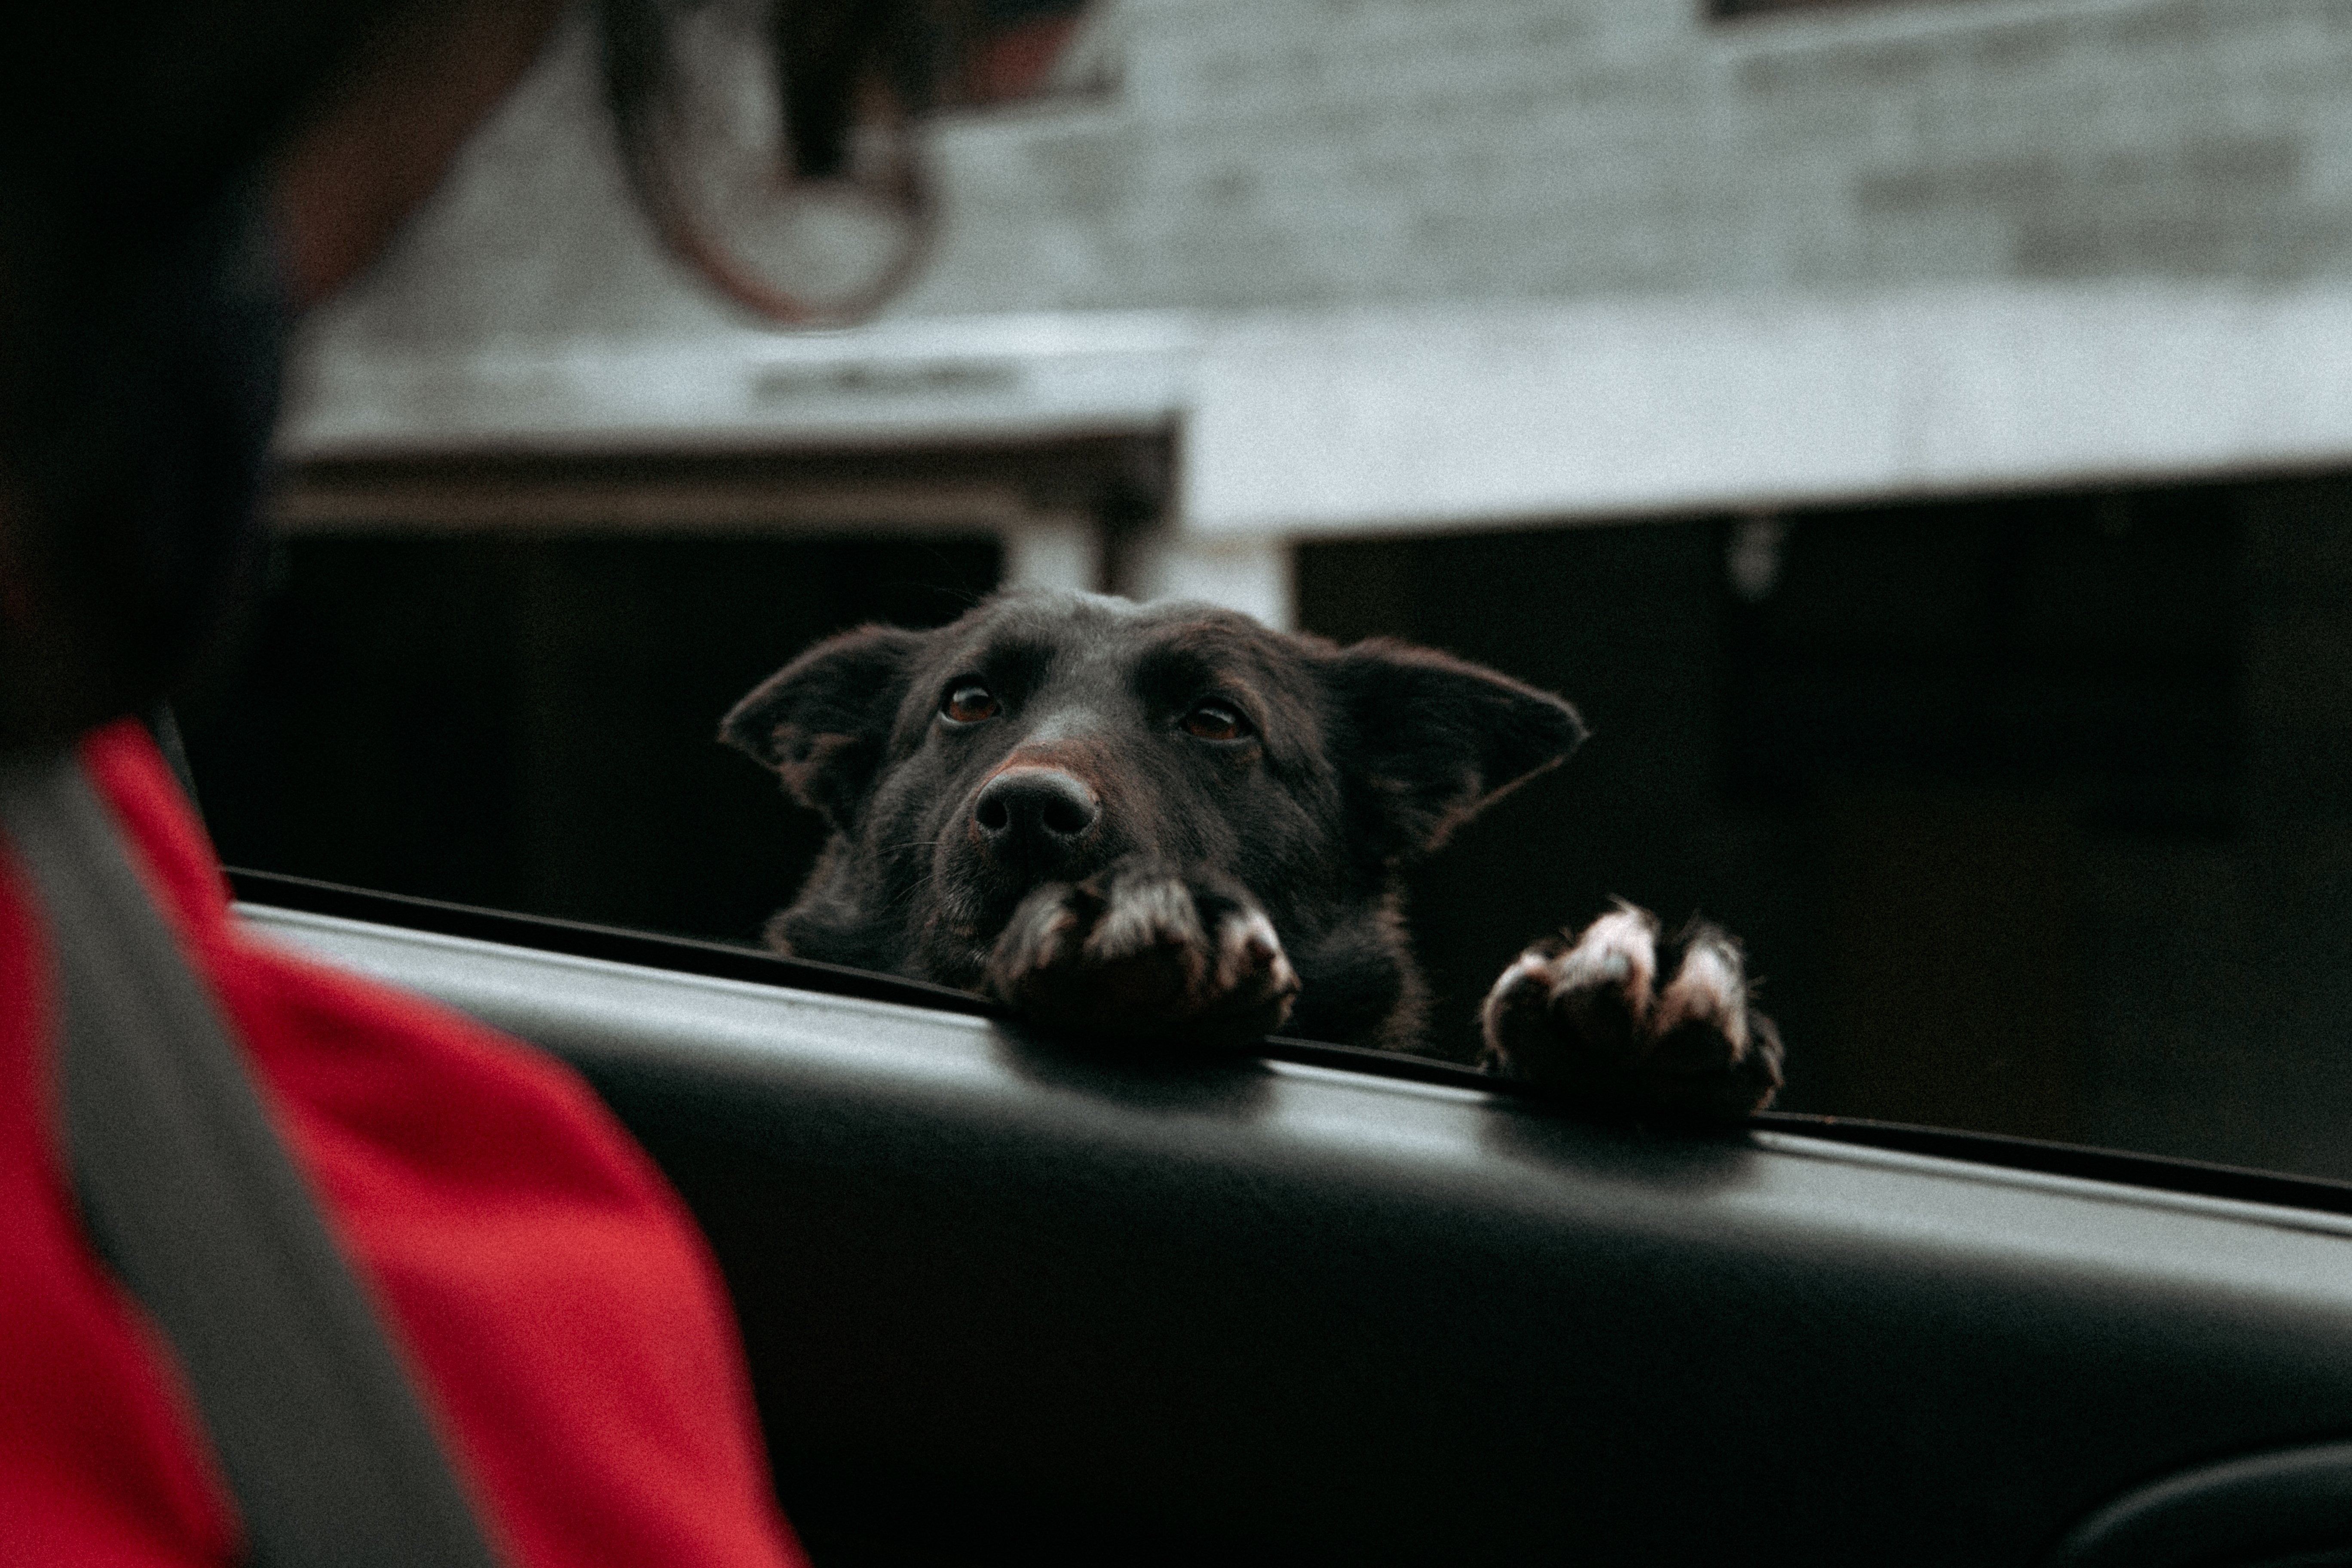
[[1416,877],[1444,1048],[1623,893],[1792,1107],[2352,1175],[2352,7],[1117,0],[936,158],[762,329],[567,31],[310,327],[226,858],[750,940],[802,644],[1211,597],[1592,719]]

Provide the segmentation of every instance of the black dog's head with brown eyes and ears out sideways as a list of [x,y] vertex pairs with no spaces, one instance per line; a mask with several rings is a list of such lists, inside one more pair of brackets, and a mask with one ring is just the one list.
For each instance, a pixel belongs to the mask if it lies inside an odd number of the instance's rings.
[[931,632],[821,642],[720,736],[833,825],[828,898],[901,910],[953,980],[1040,882],[1136,851],[1240,879],[1294,940],[1562,762],[1583,724],[1392,642],[1004,595]]

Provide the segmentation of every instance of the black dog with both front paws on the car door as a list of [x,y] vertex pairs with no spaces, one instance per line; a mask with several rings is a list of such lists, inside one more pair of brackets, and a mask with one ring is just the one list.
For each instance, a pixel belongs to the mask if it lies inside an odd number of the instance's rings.
[[[1411,1048],[1397,872],[1583,738],[1555,696],[1395,642],[1204,604],[1007,595],[821,642],[720,736],[833,827],[779,952],[938,980],[1058,1030]],[[1661,957],[1618,907],[1522,954],[1489,1065],[1630,1110],[1743,1117],[1780,1086],[1731,938]],[[1661,983],[1663,980],[1663,983]]]

